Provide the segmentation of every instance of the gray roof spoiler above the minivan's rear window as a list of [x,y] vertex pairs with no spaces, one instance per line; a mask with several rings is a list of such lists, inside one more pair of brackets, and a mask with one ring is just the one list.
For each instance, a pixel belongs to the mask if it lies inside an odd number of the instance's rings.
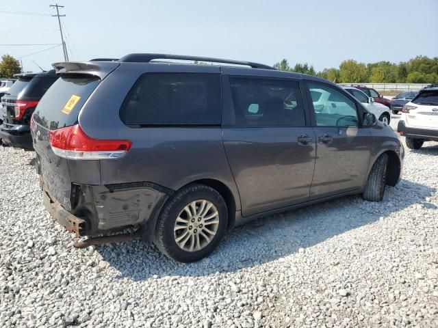
[[52,64],[56,74],[90,74],[100,79],[104,79],[110,72],[120,65],[118,61],[93,61],[77,62],[67,61]]

